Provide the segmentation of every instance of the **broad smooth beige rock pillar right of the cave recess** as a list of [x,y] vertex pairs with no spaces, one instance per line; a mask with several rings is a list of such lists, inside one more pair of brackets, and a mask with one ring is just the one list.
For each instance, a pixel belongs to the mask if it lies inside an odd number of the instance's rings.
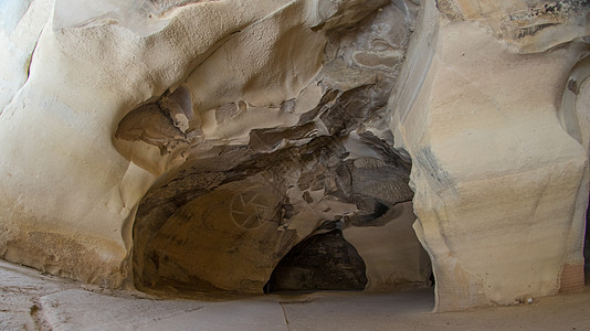
[[390,104],[396,147],[413,161],[414,229],[433,260],[436,310],[583,286],[588,148],[556,115],[588,50],[560,43],[587,34],[588,6],[508,2],[423,3]]

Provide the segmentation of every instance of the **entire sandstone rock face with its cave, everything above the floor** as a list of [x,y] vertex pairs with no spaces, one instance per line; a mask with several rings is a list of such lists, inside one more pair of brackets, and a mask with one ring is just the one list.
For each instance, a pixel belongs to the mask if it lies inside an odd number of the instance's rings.
[[0,253],[157,293],[387,291],[428,287],[422,245],[439,311],[580,288],[588,7],[546,2],[6,2]]

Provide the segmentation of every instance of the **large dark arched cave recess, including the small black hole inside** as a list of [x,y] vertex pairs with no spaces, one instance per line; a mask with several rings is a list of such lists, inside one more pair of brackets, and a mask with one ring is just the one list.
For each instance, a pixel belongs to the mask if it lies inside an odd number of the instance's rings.
[[412,228],[411,166],[384,141],[364,139],[376,152],[355,159],[340,140],[318,138],[187,162],[139,204],[136,287],[192,297],[429,288],[430,258]]

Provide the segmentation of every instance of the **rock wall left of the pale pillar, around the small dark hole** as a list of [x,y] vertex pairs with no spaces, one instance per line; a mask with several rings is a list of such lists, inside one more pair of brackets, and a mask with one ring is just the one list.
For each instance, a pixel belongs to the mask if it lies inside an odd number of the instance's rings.
[[[338,224],[365,246],[370,288],[428,284],[386,109],[415,4],[10,3],[3,31],[32,61],[4,76],[6,259],[107,287],[261,292]],[[17,38],[33,14],[35,47]],[[349,231],[388,224],[403,248]]]

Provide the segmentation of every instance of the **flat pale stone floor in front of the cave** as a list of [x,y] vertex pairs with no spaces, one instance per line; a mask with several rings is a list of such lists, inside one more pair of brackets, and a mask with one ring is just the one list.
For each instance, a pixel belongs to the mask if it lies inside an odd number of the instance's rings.
[[155,300],[0,260],[0,330],[590,330],[590,287],[530,305],[432,313],[432,291]]

